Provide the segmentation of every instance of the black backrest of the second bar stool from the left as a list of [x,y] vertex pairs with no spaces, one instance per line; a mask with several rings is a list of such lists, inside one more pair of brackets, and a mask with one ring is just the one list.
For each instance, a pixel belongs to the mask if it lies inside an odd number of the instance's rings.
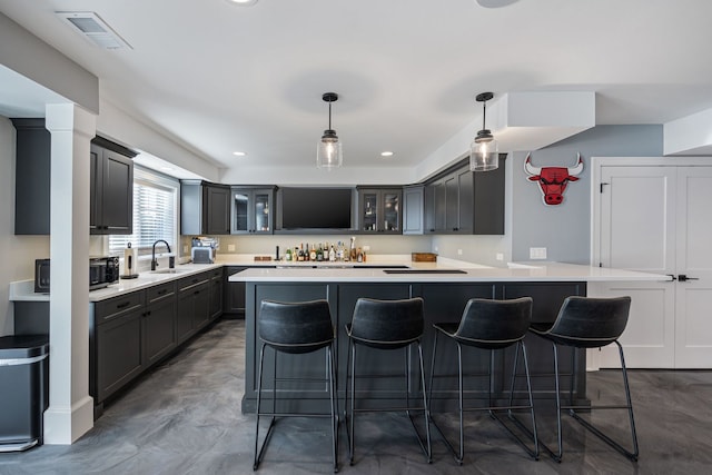
[[423,336],[423,299],[359,298],[354,307],[350,336],[368,346],[397,348]]

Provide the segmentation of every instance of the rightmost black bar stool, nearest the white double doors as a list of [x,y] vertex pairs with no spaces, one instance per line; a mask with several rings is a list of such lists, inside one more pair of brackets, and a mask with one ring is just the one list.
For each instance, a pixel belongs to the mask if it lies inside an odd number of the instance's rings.
[[[619,343],[619,337],[625,329],[627,324],[629,311],[631,307],[631,297],[616,298],[591,298],[591,297],[567,297],[558,316],[551,328],[546,325],[532,325],[531,331],[552,343],[554,348],[554,376],[556,389],[556,442],[558,444],[557,453],[551,451],[546,445],[542,446],[548,452],[556,462],[561,462],[563,455],[562,435],[561,435],[561,410],[568,409],[568,414],[578,420],[585,428],[600,437],[603,442],[631,458],[637,461],[637,435],[635,433],[635,420],[633,419],[633,405],[631,403],[631,389],[627,383],[627,372],[625,369],[625,359],[623,357],[623,347]],[[571,378],[571,388],[568,392],[567,406],[562,406],[558,372],[558,350],[557,345],[568,346],[573,348],[600,348],[610,344],[616,344],[619,355],[621,357],[621,372],[623,374],[623,386],[625,388],[624,406],[574,406],[573,405],[573,376]],[[573,352],[573,367],[575,368],[576,350]],[[630,452],[621,444],[614,442],[611,437],[603,434],[599,428],[590,422],[584,420],[576,409],[627,409],[631,426],[631,435],[633,439],[633,451]]]

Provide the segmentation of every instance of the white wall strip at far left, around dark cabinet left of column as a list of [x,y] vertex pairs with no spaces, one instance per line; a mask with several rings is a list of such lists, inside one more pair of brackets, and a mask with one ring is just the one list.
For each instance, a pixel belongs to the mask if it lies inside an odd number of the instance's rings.
[[14,127],[0,117],[0,336],[14,329],[12,303],[8,300],[10,283],[34,278],[34,259],[49,257],[49,236],[13,234],[14,150]]

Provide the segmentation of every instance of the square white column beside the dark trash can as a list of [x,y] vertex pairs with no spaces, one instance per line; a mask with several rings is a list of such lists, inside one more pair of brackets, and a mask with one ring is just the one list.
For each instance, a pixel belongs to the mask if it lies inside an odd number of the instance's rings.
[[46,106],[51,132],[49,408],[44,443],[71,444],[93,427],[89,396],[89,141],[96,116]]

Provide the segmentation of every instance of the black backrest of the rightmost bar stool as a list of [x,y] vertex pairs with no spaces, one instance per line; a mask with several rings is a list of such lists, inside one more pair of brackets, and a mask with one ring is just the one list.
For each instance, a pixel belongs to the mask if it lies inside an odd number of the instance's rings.
[[627,324],[631,297],[566,297],[548,338],[582,348],[615,342]]

